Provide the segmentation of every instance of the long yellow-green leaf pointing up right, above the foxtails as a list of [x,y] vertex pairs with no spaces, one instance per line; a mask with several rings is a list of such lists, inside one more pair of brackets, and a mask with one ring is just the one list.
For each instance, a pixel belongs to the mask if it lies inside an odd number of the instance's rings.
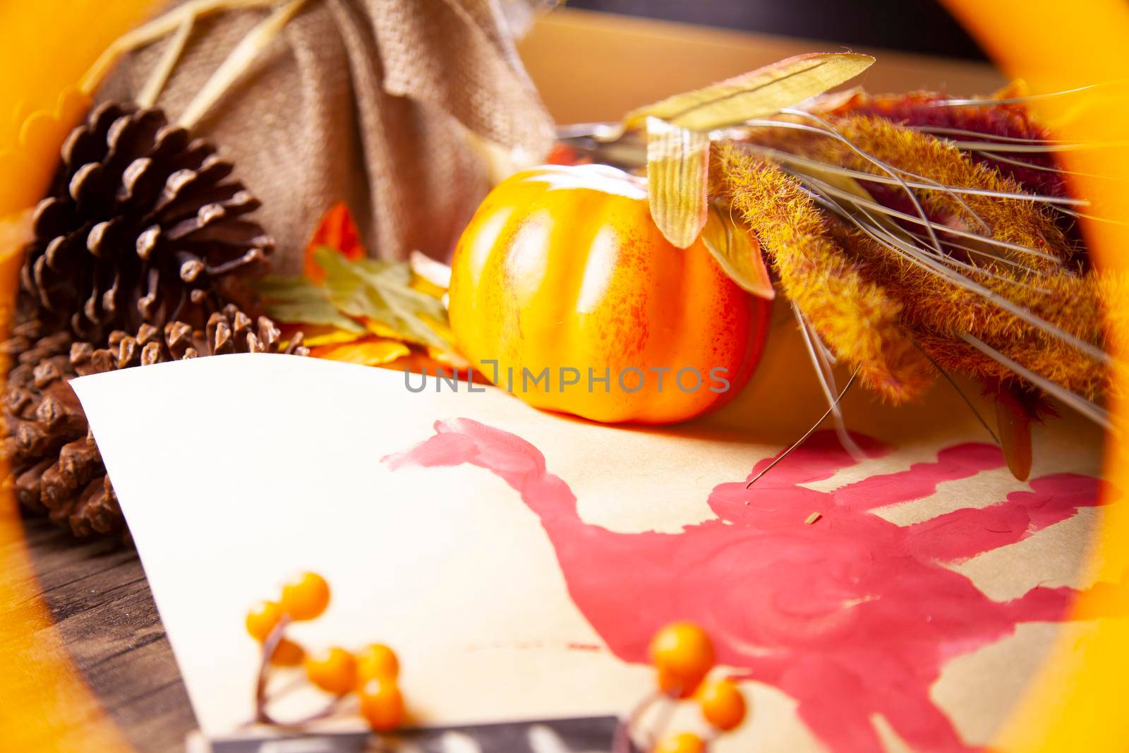
[[647,117],[695,131],[735,125],[798,105],[855,78],[872,63],[870,55],[849,52],[796,55],[633,110],[623,119],[623,126],[638,128]]

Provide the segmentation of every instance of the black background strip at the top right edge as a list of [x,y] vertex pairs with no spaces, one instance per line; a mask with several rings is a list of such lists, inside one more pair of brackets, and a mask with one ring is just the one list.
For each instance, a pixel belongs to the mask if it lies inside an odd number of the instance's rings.
[[567,0],[566,5],[840,44],[983,59],[977,44],[935,0]]

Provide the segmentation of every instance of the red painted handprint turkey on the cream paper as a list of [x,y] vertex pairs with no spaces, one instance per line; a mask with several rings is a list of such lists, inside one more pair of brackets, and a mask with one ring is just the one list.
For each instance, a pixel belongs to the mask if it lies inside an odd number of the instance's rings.
[[[692,620],[714,637],[721,664],[796,699],[800,718],[835,753],[882,751],[875,713],[914,748],[974,750],[929,698],[942,667],[1019,622],[1064,620],[1077,592],[1038,587],[995,602],[945,563],[1026,539],[1099,499],[1096,479],[1060,473],[1006,501],[899,526],[872,510],[1000,467],[1000,452],[948,447],[934,462],[821,492],[799,484],[854,464],[824,434],[752,489],[715,487],[716,519],[676,534],[622,534],[581,520],[568,484],[524,439],[470,419],[435,429],[385,459],[393,469],[470,463],[517,490],[541,518],[572,601],[618,657],[646,663],[658,628]],[[885,452],[858,441],[872,455]],[[805,525],[813,511],[822,518]]]

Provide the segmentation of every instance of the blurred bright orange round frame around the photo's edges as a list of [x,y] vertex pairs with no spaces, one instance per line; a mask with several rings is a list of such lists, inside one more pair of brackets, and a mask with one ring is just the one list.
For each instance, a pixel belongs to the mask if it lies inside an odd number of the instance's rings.
[[[1129,3],[1124,0],[943,0],[1008,75],[1033,93],[1114,82],[1086,97],[1034,103],[1067,141],[1110,142],[1065,152],[1078,173],[1129,175]],[[63,137],[82,114],[75,85],[98,54],[142,20],[152,0],[35,0],[0,5],[0,327],[10,324],[27,210],[43,195]],[[1104,94],[1103,94],[1104,91]],[[1079,107],[1084,102],[1085,106]],[[1120,145],[1120,146],[1119,146]],[[1097,263],[1129,270],[1129,181],[1079,177],[1079,195],[1097,196],[1122,222],[1088,224]],[[1129,301],[1117,301],[1119,307]],[[1129,317],[1120,317],[1129,321]],[[1114,341],[1129,341],[1120,332]],[[1123,353],[1114,353],[1122,358]],[[1118,377],[1127,379],[1123,373]],[[1120,392],[1129,393],[1129,384]],[[1124,401],[1111,405],[1127,426]],[[1129,445],[1111,438],[1104,478],[1129,489]],[[1105,508],[1089,576],[1112,583],[1129,572],[1129,506]],[[38,593],[11,490],[0,494],[0,746],[11,751],[132,750],[100,709],[59,638]],[[1124,589],[1122,589],[1124,590]],[[1087,595],[1079,615],[1124,611]],[[1124,596],[1104,598],[1124,601]],[[1129,750],[1129,620],[1102,619],[1087,637],[1056,648],[996,742],[1003,751]]]

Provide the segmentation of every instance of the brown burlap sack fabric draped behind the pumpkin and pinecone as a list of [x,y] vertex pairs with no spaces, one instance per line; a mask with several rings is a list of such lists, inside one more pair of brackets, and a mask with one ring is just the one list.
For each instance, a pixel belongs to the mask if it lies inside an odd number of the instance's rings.
[[[308,1],[194,129],[262,200],[274,271],[298,271],[317,219],[341,200],[370,255],[449,253],[489,189],[481,142],[528,159],[552,143],[514,47],[535,5]],[[266,12],[202,18],[157,104],[176,119]],[[131,99],[163,47],[123,60],[99,97]]]

